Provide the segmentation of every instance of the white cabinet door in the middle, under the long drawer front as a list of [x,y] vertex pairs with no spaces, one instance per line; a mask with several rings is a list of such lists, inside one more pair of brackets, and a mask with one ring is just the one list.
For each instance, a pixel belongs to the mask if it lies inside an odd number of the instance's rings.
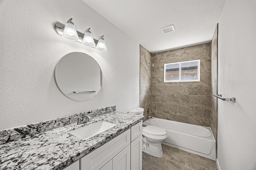
[[113,158],[113,170],[131,169],[131,147],[128,145]]

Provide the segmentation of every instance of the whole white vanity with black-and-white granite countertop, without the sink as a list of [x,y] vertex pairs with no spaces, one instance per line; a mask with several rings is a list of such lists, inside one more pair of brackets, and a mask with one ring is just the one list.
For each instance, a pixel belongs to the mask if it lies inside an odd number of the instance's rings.
[[[142,119],[118,111],[0,145],[0,169],[141,170]],[[72,131],[99,122],[113,127],[84,139]],[[86,131],[84,132],[86,133]]]

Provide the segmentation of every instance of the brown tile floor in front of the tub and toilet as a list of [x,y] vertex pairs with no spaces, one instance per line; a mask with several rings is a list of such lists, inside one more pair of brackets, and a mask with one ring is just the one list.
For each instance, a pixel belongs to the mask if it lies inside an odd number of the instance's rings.
[[218,170],[214,160],[162,144],[164,156],[143,152],[142,170]]

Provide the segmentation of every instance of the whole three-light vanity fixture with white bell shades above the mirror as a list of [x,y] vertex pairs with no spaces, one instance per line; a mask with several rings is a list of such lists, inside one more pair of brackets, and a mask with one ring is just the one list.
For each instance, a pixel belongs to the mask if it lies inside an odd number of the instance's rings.
[[77,41],[89,47],[93,47],[98,51],[107,51],[106,42],[103,38],[103,35],[100,36],[97,40],[92,37],[90,28],[86,29],[84,34],[79,31],[76,31],[74,23],[72,22],[72,18],[68,20],[66,25],[59,22],[56,23],[55,31],[58,33],[58,35],[62,35],[64,39],[68,39],[70,41]]

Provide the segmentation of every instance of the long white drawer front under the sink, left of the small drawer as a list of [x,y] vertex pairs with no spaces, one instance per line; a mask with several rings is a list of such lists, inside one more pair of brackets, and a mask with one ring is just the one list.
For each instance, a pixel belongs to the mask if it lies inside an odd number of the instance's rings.
[[98,149],[80,158],[80,170],[99,170],[116,154],[130,144],[131,131],[128,129]]

